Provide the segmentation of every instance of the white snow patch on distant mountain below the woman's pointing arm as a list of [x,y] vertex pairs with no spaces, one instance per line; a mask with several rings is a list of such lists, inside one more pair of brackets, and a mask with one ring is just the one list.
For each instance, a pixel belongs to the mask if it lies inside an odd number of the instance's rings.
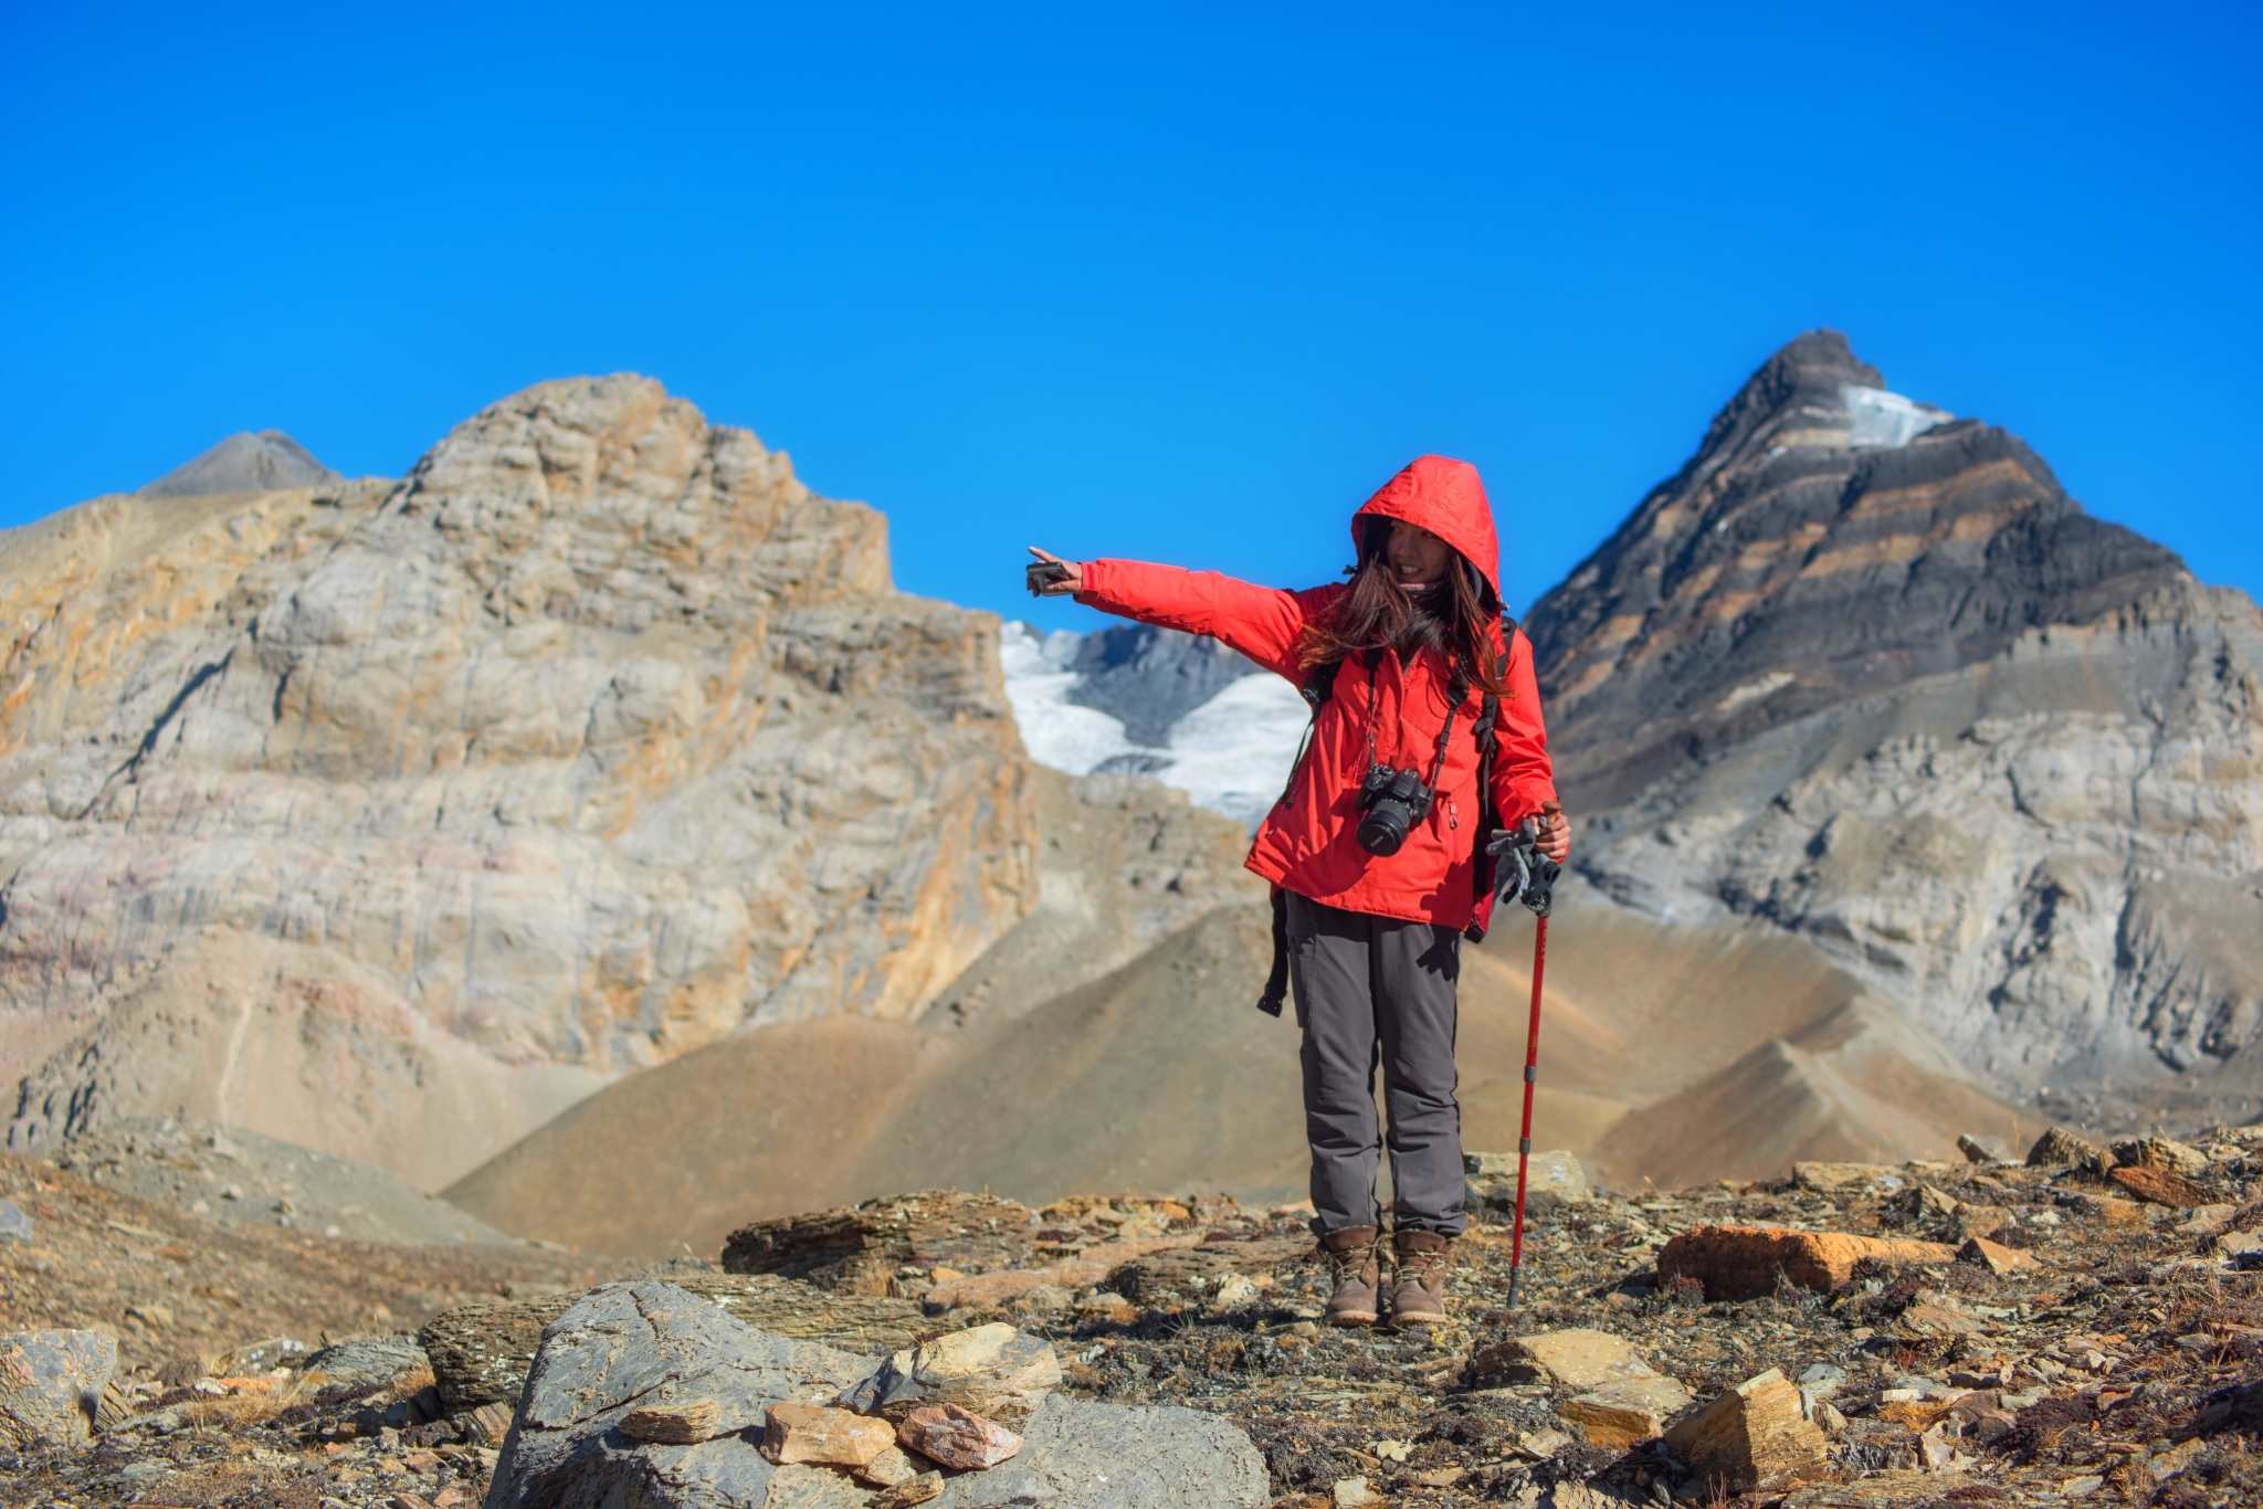
[[1172,722],[1161,744],[1138,744],[1120,717],[1073,701],[1089,688],[1089,676],[1075,670],[1084,640],[1066,629],[1039,636],[1023,622],[1009,622],[1000,636],[1005,690],[1030,758],[1073,776],[1095,769],[1154,776],[1197,808],[1256,830],[1288,783],[1310,719],[1297,688],[1251,667]]

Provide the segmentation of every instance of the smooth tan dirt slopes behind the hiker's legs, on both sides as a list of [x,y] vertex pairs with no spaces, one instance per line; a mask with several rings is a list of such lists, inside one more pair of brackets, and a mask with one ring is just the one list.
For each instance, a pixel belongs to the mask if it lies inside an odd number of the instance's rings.
[[[1238,830],[1122,776],[1041,776],[1041,824],[1046,900],[921,1025],[745,1032],[588,1097],[448,1199],[505,1231],[665,1256],[896,1190],[1301,1197],[1297,1029],[1251,1004],[1272,941],[1263,891],[1220,866]],[[1464,1145],[1516,1147],[1532,919],[1462,957]],[[1593,1152],[1607,1179],[1666,1185],[1781,1174],[1792,1145],[1955,1156],[1960,1131],[2005,1127],[1919,1029],[1849,1027],[1860,991],[1799,939],[1675,928],[1573,891],[1550,934],[1534,1136]],[[1738,1102],[1740,1061],[1776,1041],[1869,1100],[1810,1097],[1786,1140]],[[1711,1100],[1679,1104],[1693,1086]]]

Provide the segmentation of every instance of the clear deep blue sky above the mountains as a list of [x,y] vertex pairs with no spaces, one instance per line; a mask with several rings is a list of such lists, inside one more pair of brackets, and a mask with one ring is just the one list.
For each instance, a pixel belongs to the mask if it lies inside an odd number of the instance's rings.
[[1829,324],[2263,595],[2258,16],[18,2],[0,523],[629,369],[885,509],[907,590],[1326,579],[1439,450],[1523,611]]

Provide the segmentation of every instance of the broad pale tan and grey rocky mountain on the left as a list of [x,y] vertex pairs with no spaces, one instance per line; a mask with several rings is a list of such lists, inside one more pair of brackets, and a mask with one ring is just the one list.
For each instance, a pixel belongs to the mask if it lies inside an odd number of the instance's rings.
[[181,1109],[444,1183],[740,1025],[907,1016],[1036,903],[996,620],[656,382],[5,559],[16,1145]]

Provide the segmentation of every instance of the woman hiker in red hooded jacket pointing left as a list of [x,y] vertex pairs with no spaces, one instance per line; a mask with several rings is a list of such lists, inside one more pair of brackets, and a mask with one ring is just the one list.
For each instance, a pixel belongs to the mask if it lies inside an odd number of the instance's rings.
[[[1335,1278],[1328,1321],[1374,1326],[1383,1312],[1380,1063],[1389,1314],[1419,1326],[1444,1319],[1448,1249],[1469,1224],[1455,984],[1462,937],[1482,939],[1491,916],[1487,837],[1534,817],[1541,853],[1561,862],[1571,826],[1555,812],[1532,645],[1514,624],[1503,640],[1500,545],[1478,468],[1417,457],[1360,505],[1351,538],[1351,581],[1301,593],[1034,547],[1030,581],[1217,636],[1313,701],[1306,751],[1247,864],[1274,882],[1276,948],[1285,934],[1297,986],[1313,1228]],[[1487,710],[1498,710],[1491,731]],[[1276,966],[1270,1009],[1279,989]]]

